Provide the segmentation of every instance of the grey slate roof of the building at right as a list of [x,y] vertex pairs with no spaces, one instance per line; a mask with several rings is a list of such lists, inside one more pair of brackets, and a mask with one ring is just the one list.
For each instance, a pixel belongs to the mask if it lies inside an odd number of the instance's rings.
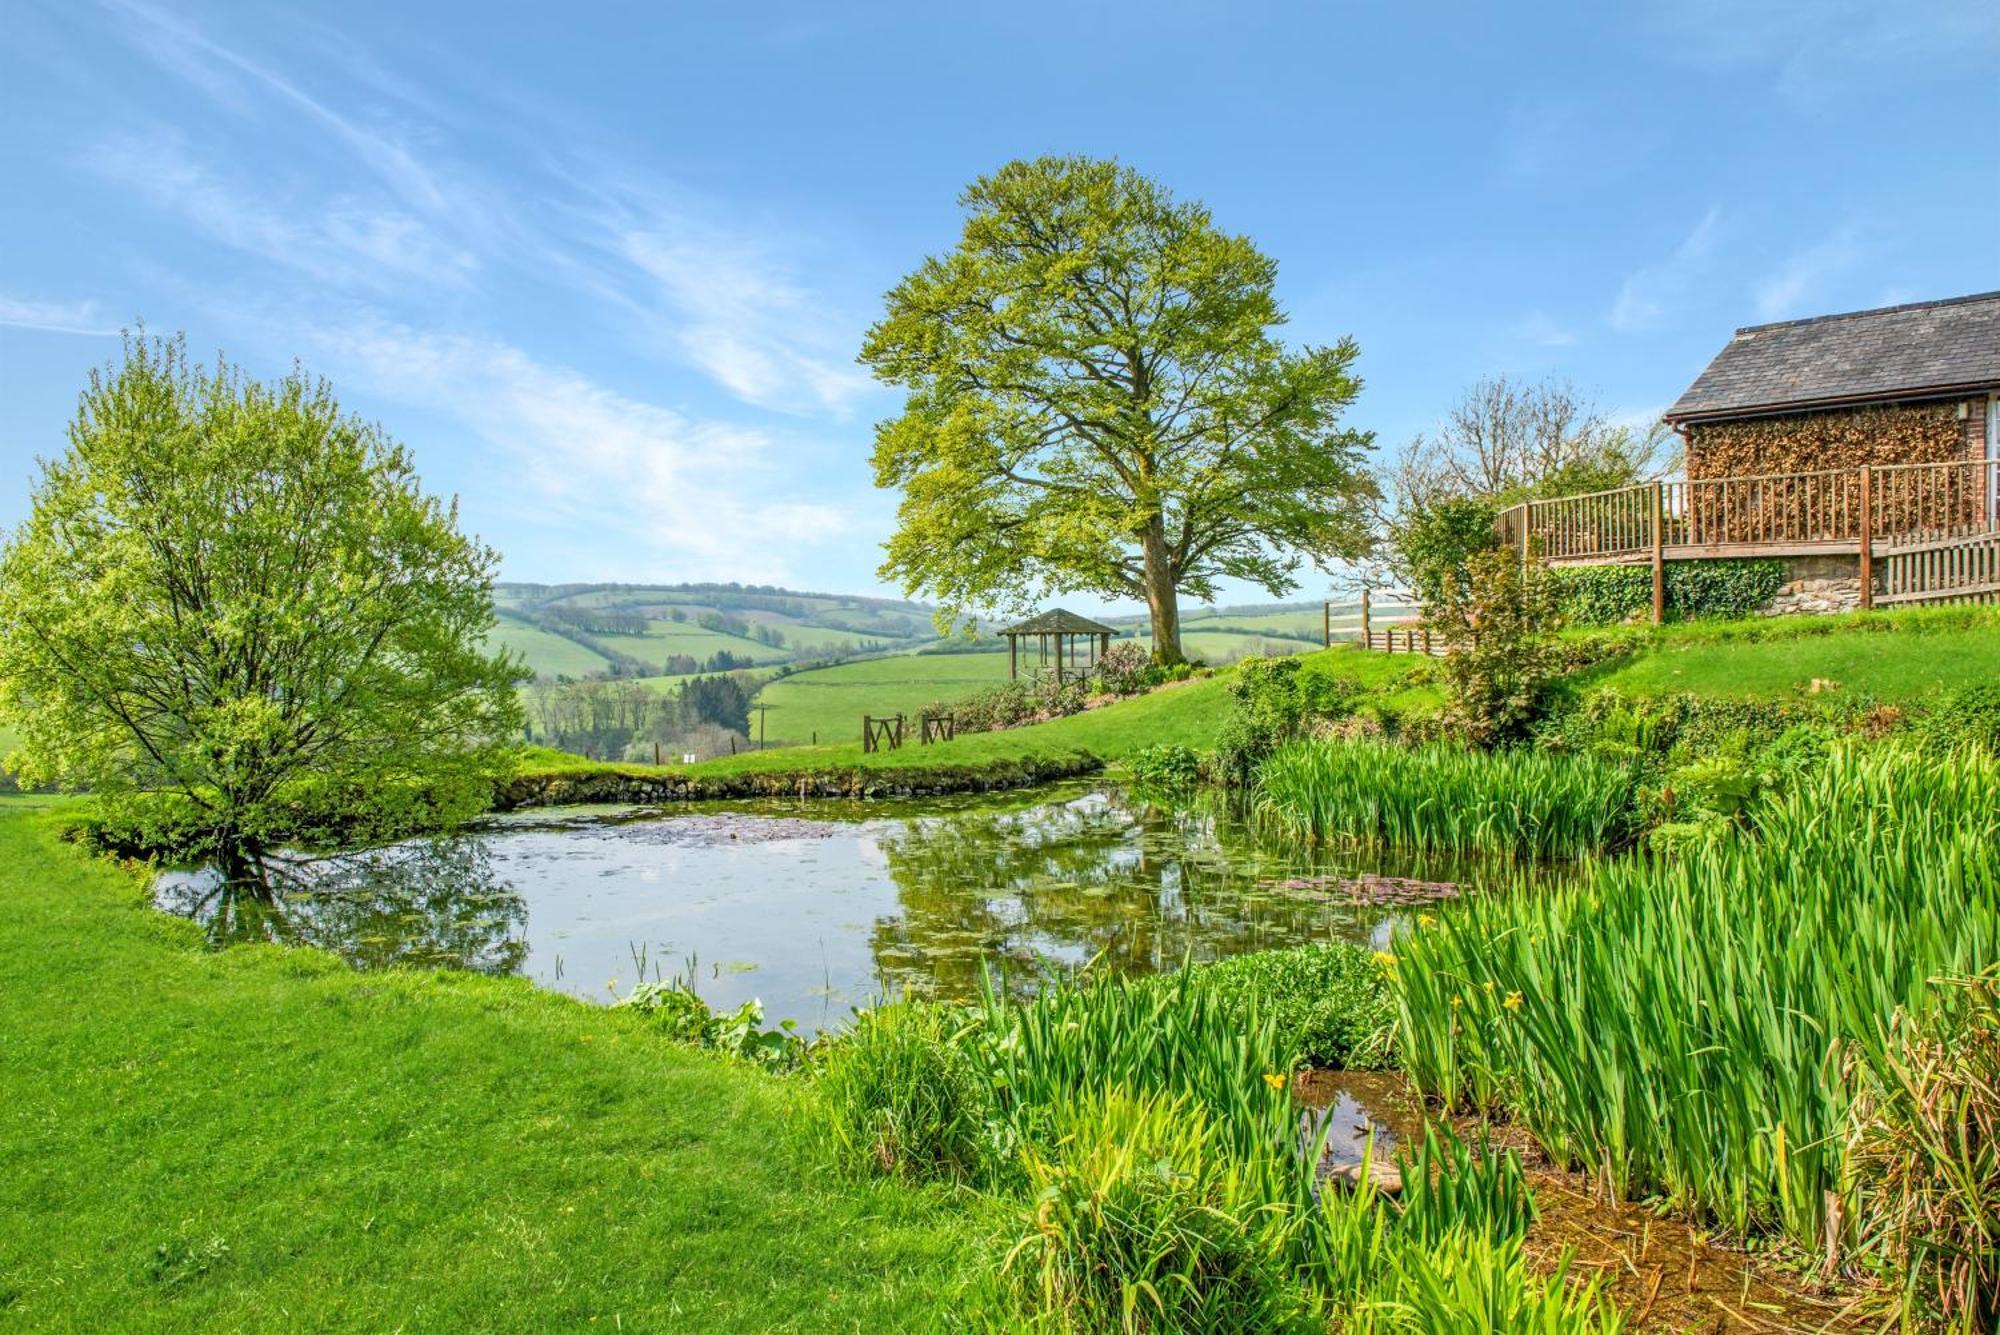
[[1716,354],[1668,422],[2000,386],[2000,292],[1754,324]]

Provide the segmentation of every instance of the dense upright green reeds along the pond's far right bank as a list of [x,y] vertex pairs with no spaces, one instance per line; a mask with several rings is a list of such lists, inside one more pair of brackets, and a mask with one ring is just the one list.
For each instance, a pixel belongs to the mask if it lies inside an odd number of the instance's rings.
[[1296,741],[1258,769],[1258,815],[1322,843],[1582,857],[1632,837],[1628,765],[1538,751]]

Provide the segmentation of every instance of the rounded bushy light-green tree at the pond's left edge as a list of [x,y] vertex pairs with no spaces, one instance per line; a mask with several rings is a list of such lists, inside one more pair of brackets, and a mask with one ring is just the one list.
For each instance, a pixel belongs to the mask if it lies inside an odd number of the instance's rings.
[[0,552],[10,767],[168,807],[236,877],[328,803],[474,803],[520,727],[494,568],[324,382],[126,340]]

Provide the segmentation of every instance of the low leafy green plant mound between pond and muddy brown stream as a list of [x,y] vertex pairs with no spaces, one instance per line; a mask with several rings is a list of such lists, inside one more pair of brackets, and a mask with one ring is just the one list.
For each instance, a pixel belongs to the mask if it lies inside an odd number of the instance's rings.
[[1374,951],[1344,941],[1294,945],[1196,965],[1236,1009],[1256,1007],[1278,1041],[1308,1065],[1368,1071],[1388,1065],[1396,1007]]

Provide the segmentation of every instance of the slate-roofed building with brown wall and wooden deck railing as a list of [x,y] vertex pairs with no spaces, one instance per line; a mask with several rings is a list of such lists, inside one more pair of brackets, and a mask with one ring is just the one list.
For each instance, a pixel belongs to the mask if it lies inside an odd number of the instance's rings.
[[1528,502],[1522,558],[1786,562],[1770,612],[2000,598],[2000,292],[1736,330],[1664,414],[1686,478]]

